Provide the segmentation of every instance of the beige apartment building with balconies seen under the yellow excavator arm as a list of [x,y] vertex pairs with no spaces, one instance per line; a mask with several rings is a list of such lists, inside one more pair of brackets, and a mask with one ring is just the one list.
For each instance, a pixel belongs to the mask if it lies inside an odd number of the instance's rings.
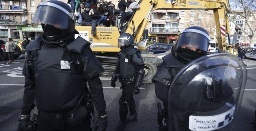
[[154,10],[146,29],[149,30],[150,42],[173,44],[180,32],[190,26],[203,27],[212,40],[216,39],[212,10]]

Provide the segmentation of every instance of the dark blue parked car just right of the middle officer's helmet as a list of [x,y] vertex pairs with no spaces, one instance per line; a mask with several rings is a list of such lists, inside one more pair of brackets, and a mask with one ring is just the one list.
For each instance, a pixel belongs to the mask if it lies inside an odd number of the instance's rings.
[[172,47],[173,47],[173,44],[158,43],[158,44],[148,45],[145,48],[145,50],[147,50],[147,52],[153,52],[154,54],[158,54],[158,53],[166,52],[167,50],[171,49]]

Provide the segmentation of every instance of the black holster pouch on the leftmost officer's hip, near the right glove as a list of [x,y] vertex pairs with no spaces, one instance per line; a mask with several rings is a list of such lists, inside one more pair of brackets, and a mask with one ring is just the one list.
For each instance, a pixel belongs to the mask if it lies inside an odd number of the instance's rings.
[[88,116],[88,109],[86,106],[78,106],[76,109],[69,111],[67,116],[67,122],[72,125],[78,125],[81,121],[89,118]]

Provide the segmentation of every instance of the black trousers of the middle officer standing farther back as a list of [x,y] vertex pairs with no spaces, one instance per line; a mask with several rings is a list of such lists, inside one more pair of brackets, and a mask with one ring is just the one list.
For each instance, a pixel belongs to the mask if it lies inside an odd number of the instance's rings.
[[[136,113],[136,105],[133,98],[133,90],[135,83],[128,83],[127,81],[121,81],[122,84],[122,95],[121,95],[121,101],[124,102],[124,104],[128,104],[130,115],[134,115]],[[126,120],[127,114],[128,114],[128,107],[126,106],[119,106],[119,117],[120,121],[124,122]]]

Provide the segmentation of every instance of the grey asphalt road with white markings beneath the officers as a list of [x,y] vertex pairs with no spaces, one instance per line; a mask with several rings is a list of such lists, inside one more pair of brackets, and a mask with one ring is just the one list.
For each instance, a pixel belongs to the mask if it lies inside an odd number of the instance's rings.
[[[248,74],[246,90],[234,131],[253,131],[250,123],[254,120],[256,109],[256,60],[245,59],[244,62],[247,64]],[[23,64],[24,57],[10,65],[0,63],[0,131],[17,131],[17,118],[21,113],[24,91],[24,77],[21,75]],[[111,78],[101,76],[101,79],[107,104],[109,123],[107,131],[113,131],[119,120],[118,100],[121,96],[119,89],[121,84],[116,82],[117,87],[112,88],[110,87]],[[143,85],[140,94],[134,97],[138,121],[127,124],[124,131],[158,131],[156,104],[160,100],[155,96],[154,84]]]

